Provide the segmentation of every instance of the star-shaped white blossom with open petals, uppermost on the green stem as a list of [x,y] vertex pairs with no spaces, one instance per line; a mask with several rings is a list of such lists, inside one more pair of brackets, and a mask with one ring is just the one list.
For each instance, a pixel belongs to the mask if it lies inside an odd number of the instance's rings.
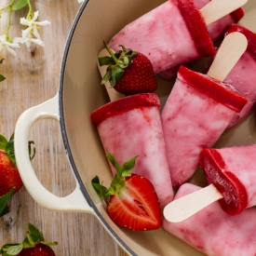
[[20,24],[23,26],[27,26],[28,28],[25,30],[22,30],[22,38],[25,41],[25,39],[28,37],[29,34],[33,33],[36,38],[41,40],[41,37],[38,33],[38,26],[46,26],[50,24],[49,21],[35,21],[39,16],[39,12],[34,12],[34,18],[32,20],[27,20],[25,18],[20,18]]

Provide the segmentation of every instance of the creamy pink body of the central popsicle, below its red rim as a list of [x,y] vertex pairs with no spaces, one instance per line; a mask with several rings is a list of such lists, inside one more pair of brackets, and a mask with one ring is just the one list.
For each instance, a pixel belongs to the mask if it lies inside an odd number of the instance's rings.
[[219,139],[234,115],[234,110],[187,85],[178,75],[161,114],[174,186],[191,178],[200,152]]

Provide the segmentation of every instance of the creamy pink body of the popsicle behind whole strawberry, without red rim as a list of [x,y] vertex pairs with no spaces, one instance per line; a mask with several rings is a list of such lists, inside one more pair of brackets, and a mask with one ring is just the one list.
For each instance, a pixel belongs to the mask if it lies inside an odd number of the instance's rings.
[[146,55],[155,74],[200,57],[172,0],[129,23],[115,34],[109,47],[118,50],[120,44]]

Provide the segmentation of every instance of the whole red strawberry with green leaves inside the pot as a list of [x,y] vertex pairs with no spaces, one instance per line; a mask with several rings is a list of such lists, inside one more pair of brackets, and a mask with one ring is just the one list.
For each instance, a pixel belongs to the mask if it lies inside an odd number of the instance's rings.
[[111,87],[125,95],[155,92],[157,82],[152,63],[146,56],[123,46],[114,53],[103,43],[111,56],[99,58],[101,66],[108,65],[101,85],[109,81]]

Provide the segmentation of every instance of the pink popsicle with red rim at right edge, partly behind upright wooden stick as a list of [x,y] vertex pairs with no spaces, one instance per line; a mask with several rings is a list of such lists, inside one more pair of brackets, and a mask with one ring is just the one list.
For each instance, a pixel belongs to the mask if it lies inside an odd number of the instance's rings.
[[236,88],[241,95],[248,99],[248,102],[241,112],[236,113],[228,128],[235,126],[240,120],[249,115],[256,102],[256,34],[237,24],[231,25],[227,34],[233,32],[242,33],[247,37],[248,48],[224,82]]

